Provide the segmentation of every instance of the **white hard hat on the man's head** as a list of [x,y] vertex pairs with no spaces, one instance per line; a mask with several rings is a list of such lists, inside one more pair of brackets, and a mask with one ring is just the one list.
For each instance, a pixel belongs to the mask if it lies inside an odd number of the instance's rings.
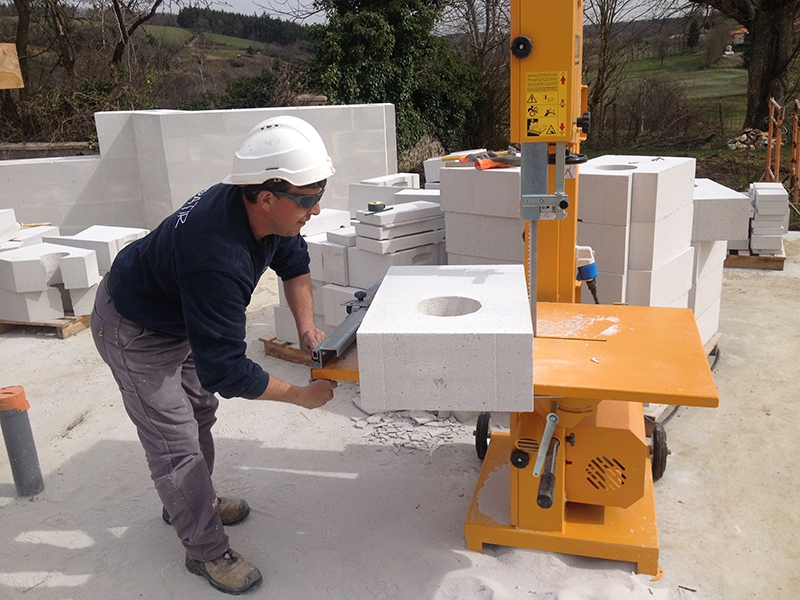
[[268,179],[283,179],[300,187],[335,172],[316,129],[297,117],[272,117],[253,127],[242,140],[233,157],[231,174],[222,182],[258,185]]

